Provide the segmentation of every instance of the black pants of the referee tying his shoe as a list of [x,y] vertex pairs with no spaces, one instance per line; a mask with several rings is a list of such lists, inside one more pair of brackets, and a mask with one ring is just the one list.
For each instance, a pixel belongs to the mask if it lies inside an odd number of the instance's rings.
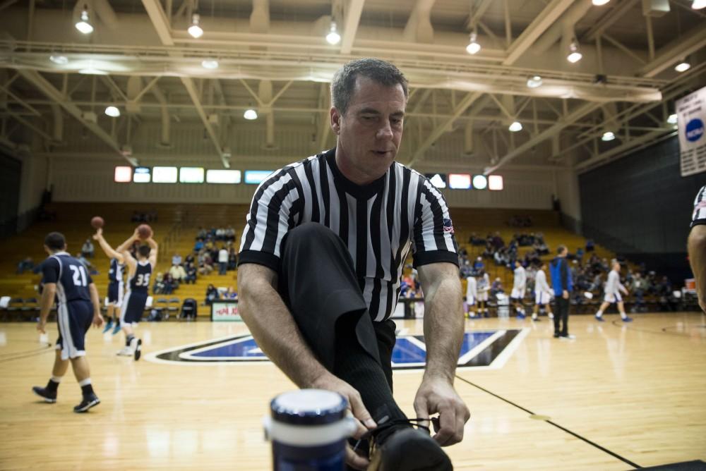
[[[352,350],[360,350],[360,345],[373,359],[366,367],[382,370],[380,375],[365,376],[384,378],[383,384],[375,386],[391,392],[395,323],[371,319],[341,238],[322,224],[306,223],[287,232],[280,252],[277,290],[313,354],[326,369],[336,372],[348,360],[340,345],[354,345]],[[351,386],[361,392],[365,403],[361,385]],[[369,412],[375,414],[374,410]]]

